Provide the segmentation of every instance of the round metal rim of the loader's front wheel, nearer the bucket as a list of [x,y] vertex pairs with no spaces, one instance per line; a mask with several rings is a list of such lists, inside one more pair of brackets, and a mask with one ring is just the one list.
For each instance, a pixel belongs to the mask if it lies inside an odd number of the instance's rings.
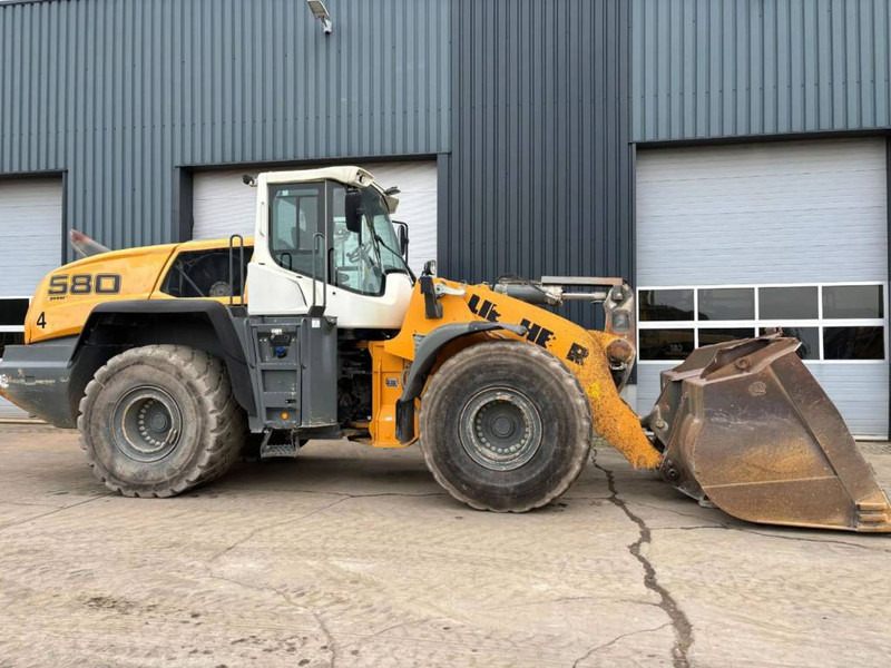
[[541,415],[522,392],[491,387],[476,394],[461,412],[461,445],[491,471],[512,471],[541,448]]

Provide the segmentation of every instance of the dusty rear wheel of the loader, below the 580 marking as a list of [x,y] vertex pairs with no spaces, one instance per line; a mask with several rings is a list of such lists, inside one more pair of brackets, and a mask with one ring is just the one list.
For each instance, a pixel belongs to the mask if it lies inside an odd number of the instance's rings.
[[223,364],[148,345],[112,357],[87,385],[77,421],[94,474],[125,497],[174,497],[237,460],[244,411]]

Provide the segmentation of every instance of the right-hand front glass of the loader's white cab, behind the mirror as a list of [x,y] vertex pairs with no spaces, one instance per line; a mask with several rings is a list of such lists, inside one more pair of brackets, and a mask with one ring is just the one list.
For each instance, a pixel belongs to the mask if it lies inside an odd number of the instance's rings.
[[405,273],[386,203],[376,188],[362,188],[365,215],[362,230],[354,233],[346,228],[345,202],[346,188],[334,186],[334,284],[363,294],[381,294],[388,273]]

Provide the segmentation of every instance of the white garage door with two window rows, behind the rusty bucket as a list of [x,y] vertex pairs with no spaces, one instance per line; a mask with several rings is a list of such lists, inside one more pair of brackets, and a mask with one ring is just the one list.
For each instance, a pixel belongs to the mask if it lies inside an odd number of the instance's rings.
[[640,150],[637,285],[646,413],[694,346],[783,326],[861,436],[888,436],[883,139]]

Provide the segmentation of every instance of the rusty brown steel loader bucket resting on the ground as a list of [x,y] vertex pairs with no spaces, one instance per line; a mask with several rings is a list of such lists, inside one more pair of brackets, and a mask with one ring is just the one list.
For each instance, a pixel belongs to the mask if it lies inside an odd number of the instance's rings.
[[835,405],[779,334],[694,351],[649,415],[663,478],[765,524],[891,531],[891,505]]

